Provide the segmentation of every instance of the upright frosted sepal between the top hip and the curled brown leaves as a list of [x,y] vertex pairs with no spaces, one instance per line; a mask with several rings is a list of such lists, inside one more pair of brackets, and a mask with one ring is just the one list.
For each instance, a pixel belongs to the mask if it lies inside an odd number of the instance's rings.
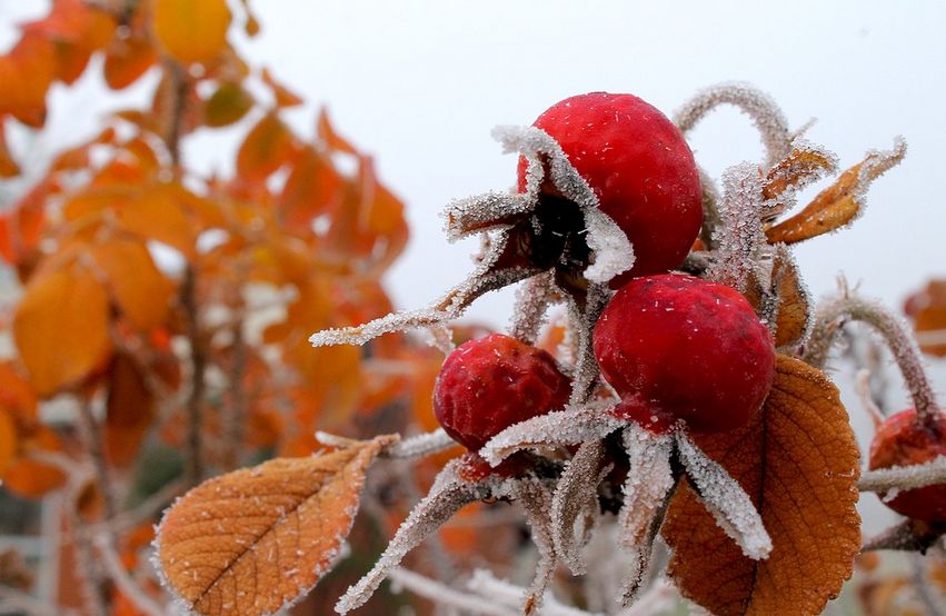
[[758,167],[743,162],[723,173],[723,200],[719,226],[714,232],[713,264],[706,278],[739,291],[758,261],[759,248],[766,244],[761,225],[763,180]]

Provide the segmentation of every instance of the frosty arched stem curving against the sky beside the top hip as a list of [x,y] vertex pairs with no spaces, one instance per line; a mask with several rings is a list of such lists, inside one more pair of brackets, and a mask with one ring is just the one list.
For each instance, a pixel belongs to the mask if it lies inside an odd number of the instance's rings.
[[767,93],[746,83],[718,83],[697,92],[674,115],[674,123],[686,135],[720,105],[733,105],[756,125],[766,148],[766,167],[788,153],[791,133],[781,109]]

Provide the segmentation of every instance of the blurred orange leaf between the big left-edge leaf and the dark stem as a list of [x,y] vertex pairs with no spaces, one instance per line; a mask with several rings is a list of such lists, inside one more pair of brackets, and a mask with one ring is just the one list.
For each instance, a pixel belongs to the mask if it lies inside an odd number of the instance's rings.
[[173,286],[155,266],[148,248],[137,240],[112,238],[93,246],[91,252],[125,316],[145,331],[161,325]]

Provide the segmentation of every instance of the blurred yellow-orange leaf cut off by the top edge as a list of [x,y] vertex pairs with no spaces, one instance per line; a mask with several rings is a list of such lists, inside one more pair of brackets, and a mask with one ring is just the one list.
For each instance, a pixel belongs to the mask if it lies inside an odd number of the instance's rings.
[[180,62],[209,62],[227,46],[226,0],[156,0],[155,34]]

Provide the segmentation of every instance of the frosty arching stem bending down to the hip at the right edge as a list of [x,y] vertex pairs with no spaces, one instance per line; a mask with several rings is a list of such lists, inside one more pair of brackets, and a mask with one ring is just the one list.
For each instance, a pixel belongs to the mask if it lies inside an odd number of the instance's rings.
[[835,337],[846,321],[865,322],[884,337],[909,389],[917,418],[923,423],[935,421],[940,411],[923,368],[916,340],[900,319],[877,302],[847,290],[823,302],[815,315],[815,327],[803,359],[817,368],[824,367]]

